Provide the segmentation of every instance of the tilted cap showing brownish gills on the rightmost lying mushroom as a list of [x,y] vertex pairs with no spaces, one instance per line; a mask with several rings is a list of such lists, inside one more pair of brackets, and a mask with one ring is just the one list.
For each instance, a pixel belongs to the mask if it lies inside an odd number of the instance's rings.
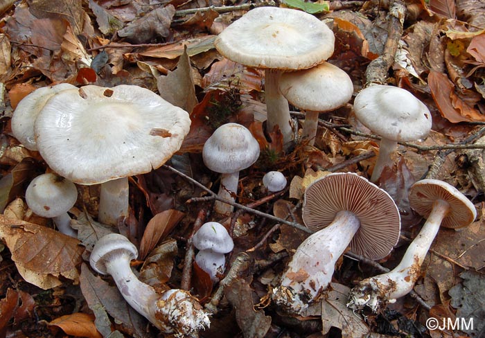
[[457,188],[439,179],[422,179],[409,189],[409,204],[416,213],[427,218],[436,199],[450,204],[448,213],[441,221],[446,228],[467,226],[477,217],[477,210]]

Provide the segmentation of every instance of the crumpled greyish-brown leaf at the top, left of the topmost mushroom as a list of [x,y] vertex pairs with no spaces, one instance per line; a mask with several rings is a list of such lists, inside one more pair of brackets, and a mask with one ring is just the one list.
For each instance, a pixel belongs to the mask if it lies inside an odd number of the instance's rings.
[[147,15],[131,21],[125,28],[118,30],[118,36],[125,37],[134,44],[143,44],[159,37],[170,35],[175,7],[168,5],[152,10]]

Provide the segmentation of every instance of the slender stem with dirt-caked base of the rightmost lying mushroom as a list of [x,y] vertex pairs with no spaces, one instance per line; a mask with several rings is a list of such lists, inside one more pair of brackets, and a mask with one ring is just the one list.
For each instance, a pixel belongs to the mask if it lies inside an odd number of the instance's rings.
[[386,274],[364,279],[355,286],[349,294],[349,308],[361,310],[367,305],[373,312],[378,312],[385,308],[387,303],[394,303],[396,299],[411,292],[419,277],[426,253],[449,210],[448,202],[437,199],[423,228],[409,244],[398,266]]

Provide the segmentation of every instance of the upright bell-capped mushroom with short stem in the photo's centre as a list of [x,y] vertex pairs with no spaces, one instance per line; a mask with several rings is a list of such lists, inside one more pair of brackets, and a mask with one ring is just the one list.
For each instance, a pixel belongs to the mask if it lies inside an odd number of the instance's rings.
[[[222,174],[218,196],[229,201],[234,201],[238,191],[240,170],[252,166],[258,157],[258,141],[246,127],[238,123],[218,127],[202,149],[206,167]],[[233,206],[215,201],[214,210],[222,215],[230,215]]]

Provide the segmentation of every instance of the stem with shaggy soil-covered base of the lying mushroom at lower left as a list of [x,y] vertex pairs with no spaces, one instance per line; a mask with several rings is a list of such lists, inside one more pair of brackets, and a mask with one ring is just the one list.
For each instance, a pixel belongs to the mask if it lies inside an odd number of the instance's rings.
[[188,292],[175,289],[158,294],[139,281],[130,267],[129,254],[108,260],[105,267],[125,301],[162,332],[192,337],[197,330],[209,326],[209,317]]

